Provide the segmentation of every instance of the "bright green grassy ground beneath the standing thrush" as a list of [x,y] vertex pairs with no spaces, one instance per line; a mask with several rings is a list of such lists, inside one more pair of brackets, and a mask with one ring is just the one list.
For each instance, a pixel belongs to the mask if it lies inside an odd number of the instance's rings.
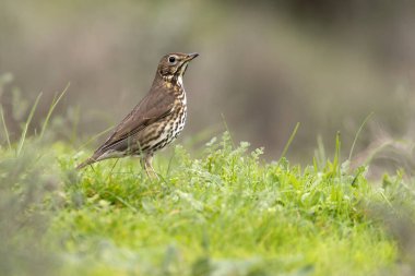
[[198,157],[180,145],[161,154],[152,181],[132,158],[74,171],[88,153],[38,139],[16,148],[0,149],[1,275],[411,271],[411,180],[376,185],[339,155],[268,164],[225,133]]

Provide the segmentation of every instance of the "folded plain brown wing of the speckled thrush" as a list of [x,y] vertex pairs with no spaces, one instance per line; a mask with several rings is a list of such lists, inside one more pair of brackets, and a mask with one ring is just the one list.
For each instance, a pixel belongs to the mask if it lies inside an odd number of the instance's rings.
[[[149,124],[169,115],[174,108],[175,97],[170,93],[150,93],[116,127],[112,134],[95,151],[94,157],[115,149],[123,151],[124,142]],[[120,148],[121,147],[121,148]]]

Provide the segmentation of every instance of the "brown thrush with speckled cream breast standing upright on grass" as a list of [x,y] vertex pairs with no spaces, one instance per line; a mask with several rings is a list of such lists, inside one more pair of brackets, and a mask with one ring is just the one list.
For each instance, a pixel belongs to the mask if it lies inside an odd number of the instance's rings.
[[185,128],[187,99],[183,75],[189,62],[198,56],[197,52],[163,56],[146,96],[76,169],[108,158],[139,156],[149,178],[158,179],[152,159],[157,151],[170,144]]

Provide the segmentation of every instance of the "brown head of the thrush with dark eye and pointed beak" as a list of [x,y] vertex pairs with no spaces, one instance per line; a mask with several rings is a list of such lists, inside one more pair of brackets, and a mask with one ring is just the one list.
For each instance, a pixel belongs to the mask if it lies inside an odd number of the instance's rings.
[[164,56],[158,63],[157,74],[169,82],[177,82],[183,76],[189,62],[199,53],[173,52]]

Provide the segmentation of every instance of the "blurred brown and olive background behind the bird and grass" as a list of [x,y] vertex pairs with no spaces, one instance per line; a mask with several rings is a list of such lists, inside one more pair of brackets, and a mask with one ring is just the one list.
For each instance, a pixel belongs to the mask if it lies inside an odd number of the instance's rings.
[[81,145],[147,93],[163,55],[197,51],[185,76],[181,141],[209,140],[225,121],[236,142],[264,146],[273,160],[300,122],[288,158],[309,164],[318,137],[332,151],[337,131],[348,154],[374,112],[356,146],[363,153],[384,136],[414,136],[414,8],[389,0],[2,0],[1,105],[19,136],[39,92],[32,131],[70,83],[54,127]]

